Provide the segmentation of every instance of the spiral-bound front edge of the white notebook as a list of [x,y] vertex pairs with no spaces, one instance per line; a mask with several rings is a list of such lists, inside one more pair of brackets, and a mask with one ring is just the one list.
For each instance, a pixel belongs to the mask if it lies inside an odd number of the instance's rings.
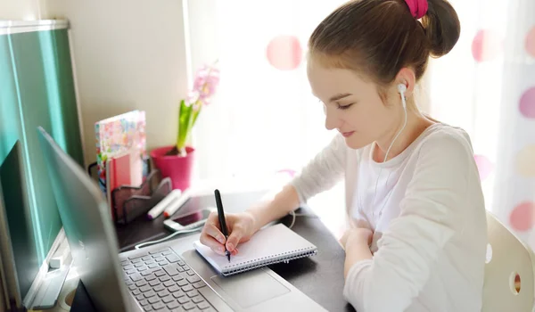
[[[276,264],[279,262],[287,262],[294,259],[305,258],[314,256],[317,254],[317,250],[310,250],[309,248],[301,248],[299,250],[286,251],[269,257],[262,257],[259,259],[249,260],[245,262],[236,263],[234,265],[223,267],[223,275],[234,275],[236,273],[242,273],[249,271],[257,267],[266,267],[268,265]],[[292,255],[288,257],[287,255]]]

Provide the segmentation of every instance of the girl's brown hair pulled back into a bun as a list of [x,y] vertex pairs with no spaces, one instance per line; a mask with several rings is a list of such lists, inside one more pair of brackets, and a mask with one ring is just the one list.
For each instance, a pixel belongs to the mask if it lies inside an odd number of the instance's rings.
[[[309,53],[328,67],[356,70],[379,90],[399,70],[424,75],[429,56],[438,58],[457,44],[460,23],[446,0],[428,0],[429,9],[416,21],[404,0],[355,0],[322,21],[309,39]],[[381,92],[382,93],[382,92]]]

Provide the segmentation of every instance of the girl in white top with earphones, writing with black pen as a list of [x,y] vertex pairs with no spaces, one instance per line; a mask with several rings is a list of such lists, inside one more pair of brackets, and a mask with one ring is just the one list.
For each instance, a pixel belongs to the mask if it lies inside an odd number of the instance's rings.
[[459,33],[445,0],[350,1],[327,16],[309,39],[308,77],[339,134],[273,200],[228,215],[227,240],[214,215],[201,242],[236,254],[345,179],[343,295],[358,312],[480,311],[487,226],[470,139],[414,97],[429,57]]

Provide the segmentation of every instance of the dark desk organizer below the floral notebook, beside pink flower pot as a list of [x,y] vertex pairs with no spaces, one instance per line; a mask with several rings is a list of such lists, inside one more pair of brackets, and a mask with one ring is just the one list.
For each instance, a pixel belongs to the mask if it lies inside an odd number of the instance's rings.
[[[89,165],[87,173],[98,182],[96,162]],[[148,212],[165,198],[173,187],[169,177],[162,178],[160,170],[154,169],[142,185],[120,185],[111,190],[111,217],[116,225],[127,225]]]

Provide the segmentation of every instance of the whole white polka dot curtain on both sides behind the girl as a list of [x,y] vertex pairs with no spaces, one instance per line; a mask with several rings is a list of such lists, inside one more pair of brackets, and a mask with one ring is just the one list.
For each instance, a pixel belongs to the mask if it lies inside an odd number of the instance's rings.
[[[317,24],[343,2],[188,2],[193,69],[215,58],[221,69],[217,99],[194,130],[200,177],[299,170],[329,142],[333,132],[325,130],[321,104],[309,90],[306,46]],[[535,95],[527,90],[535,86],[535,3],[451,3],[462,34],[451,53],[432,60],[419,106],[471,135],[487,208],[529,240]],[[341,185],[312,202],[327,226],[341,233]],[[515,227],[515,218],[529,226]]]

